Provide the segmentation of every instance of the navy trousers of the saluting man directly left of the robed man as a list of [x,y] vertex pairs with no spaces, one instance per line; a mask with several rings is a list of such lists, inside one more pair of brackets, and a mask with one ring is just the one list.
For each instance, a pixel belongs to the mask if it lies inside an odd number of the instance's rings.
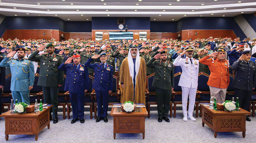
[[105,118],[108,115],[108,91],[95,90],[95,94],[98,107],[98,117]]

